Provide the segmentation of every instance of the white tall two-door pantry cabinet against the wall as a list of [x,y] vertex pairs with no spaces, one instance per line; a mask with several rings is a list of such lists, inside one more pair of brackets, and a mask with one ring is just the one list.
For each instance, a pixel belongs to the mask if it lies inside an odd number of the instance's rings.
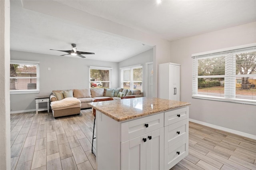
[[158,98],[180,101],[180,64],[158,65]]

